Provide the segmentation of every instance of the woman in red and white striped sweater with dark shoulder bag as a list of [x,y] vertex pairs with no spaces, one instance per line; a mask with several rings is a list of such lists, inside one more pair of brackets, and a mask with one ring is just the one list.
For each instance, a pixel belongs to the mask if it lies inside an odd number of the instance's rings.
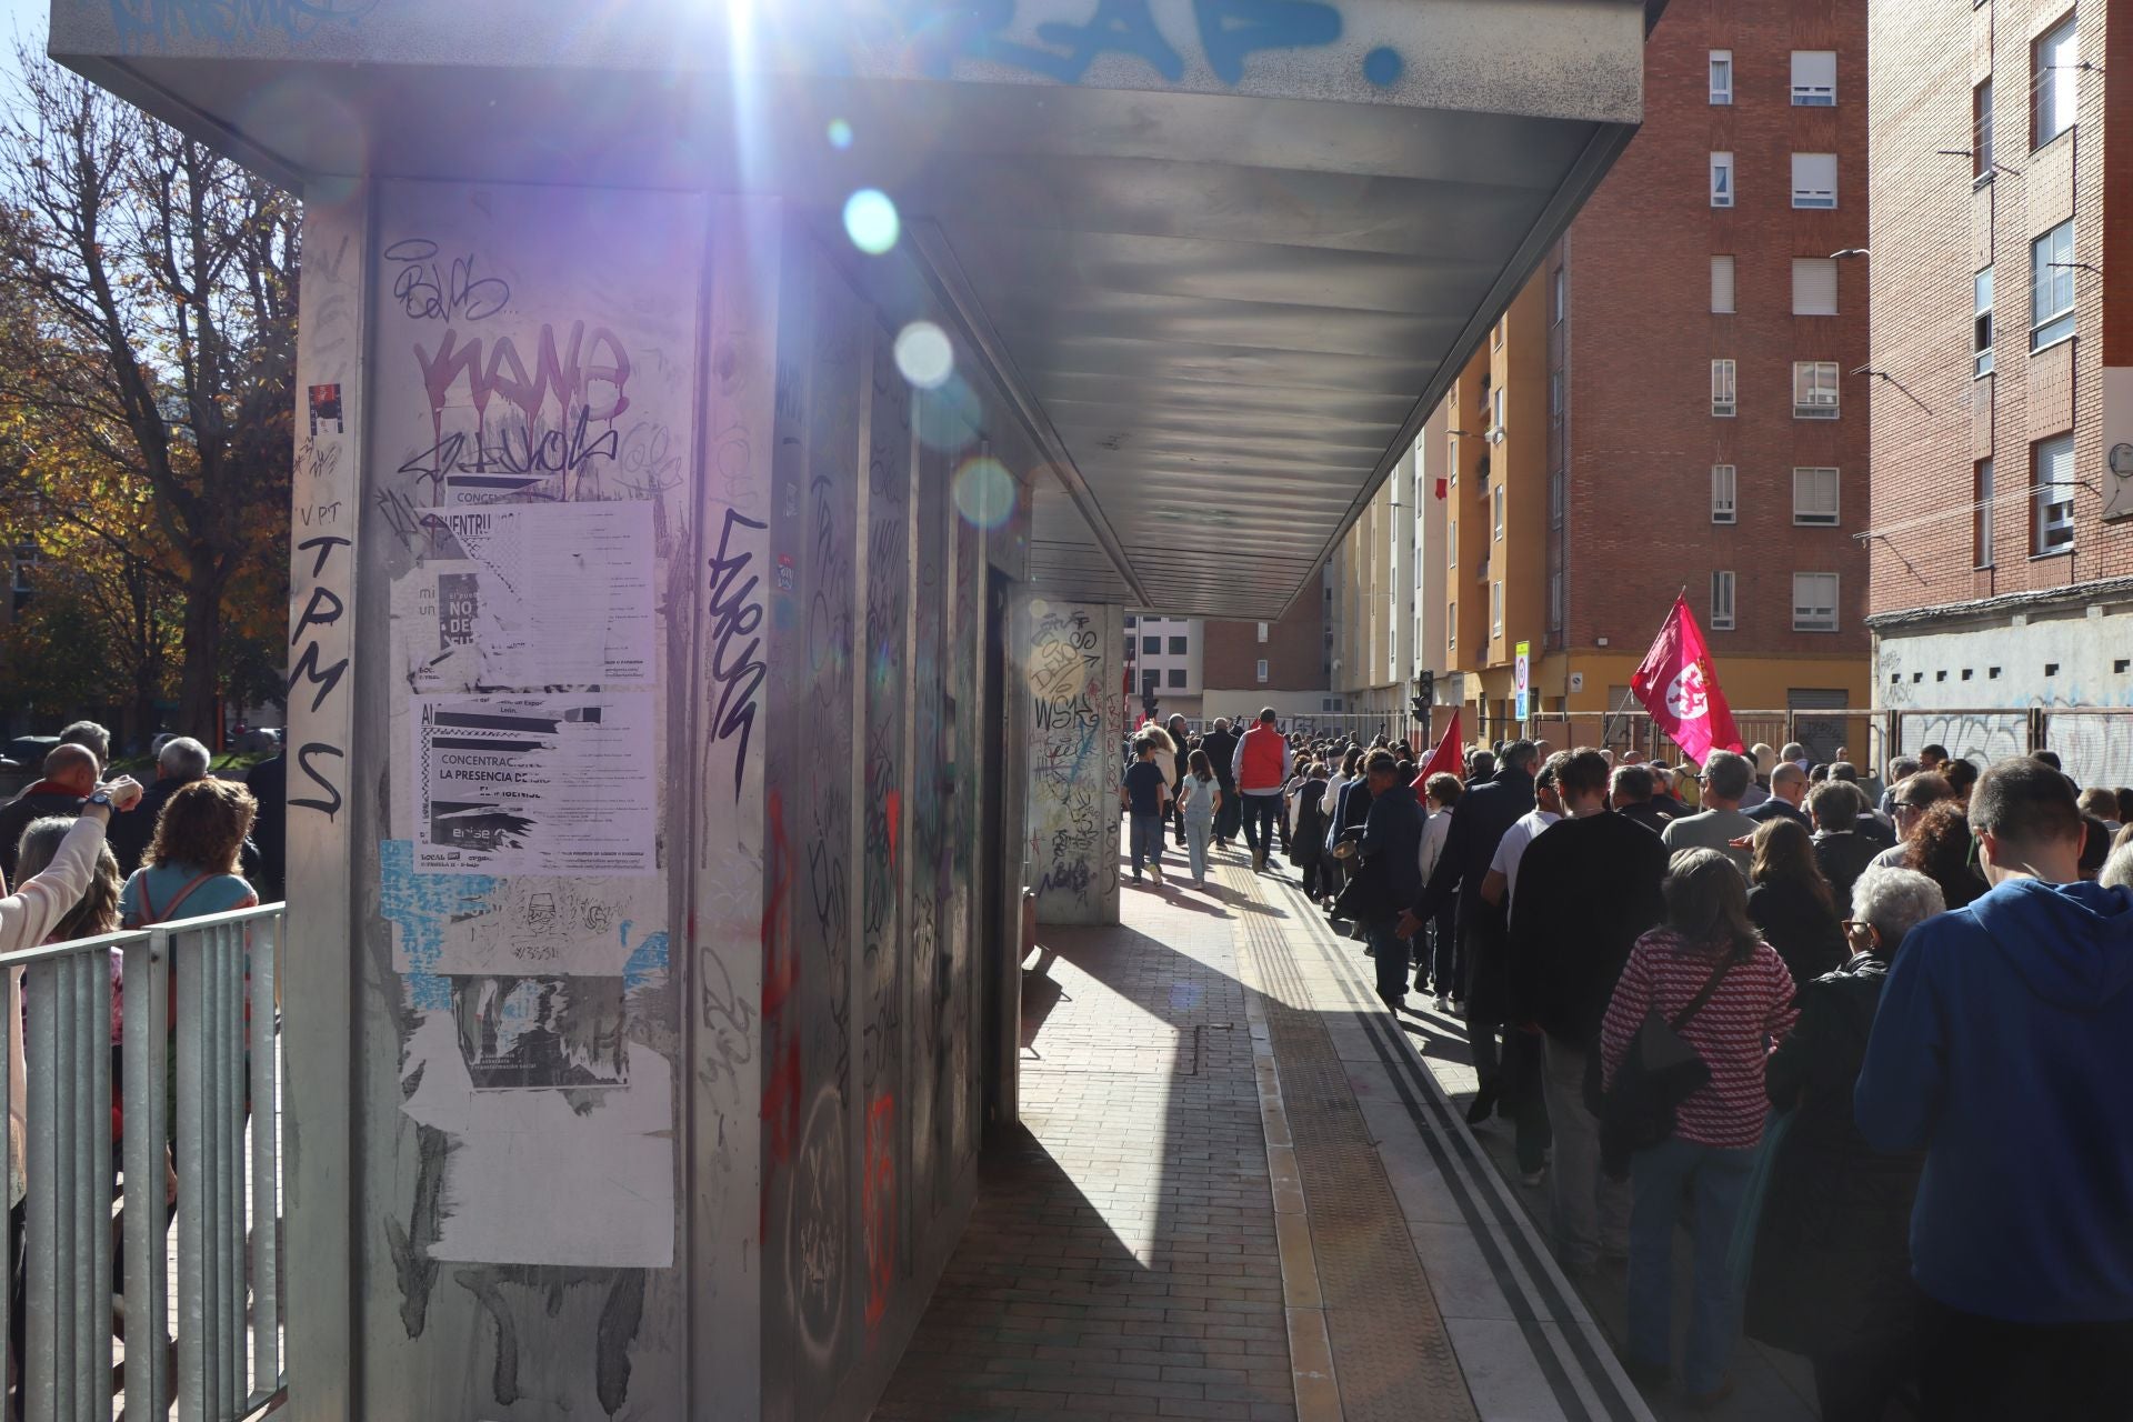
[[1615,985],[1600,1034],[1613,1085],[1647,1013],[1672,1021],[1717,976],[1711,1000],[1681,1038],[1711,1081],[1674,1117],[1674,1134],[1630,1162],[1630,1345],[1625,1367],[1657,1384],[1672,1356],[1672,1245],[1683,1200],[1696,1251],[1696,1292],[1681,1381],[1689,1405],[1732,1392],[1726,1364],[1738,1335],[1738,1281],[1726,1266],[1755,1145],[1768,1111],[1764,1062],[1792,1030],[1792,974],[1747,917],[1741,870],[1713,849],[1674,855],[1666,874],[1666,923],[1645,934]]

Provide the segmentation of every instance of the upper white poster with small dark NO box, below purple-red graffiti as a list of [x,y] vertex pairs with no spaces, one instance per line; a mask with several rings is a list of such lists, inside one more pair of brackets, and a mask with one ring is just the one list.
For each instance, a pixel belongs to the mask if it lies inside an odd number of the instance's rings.
[[427,510],[422,527],[416,691],[653,682],[651,503]]

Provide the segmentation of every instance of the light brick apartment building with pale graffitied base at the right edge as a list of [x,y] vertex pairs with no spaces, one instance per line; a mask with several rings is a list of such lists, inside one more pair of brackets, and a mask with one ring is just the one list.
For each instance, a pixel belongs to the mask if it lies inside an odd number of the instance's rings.
[[1877,704],[2129,706],[2133,0],[1873,0],[1869,38],[1873,352],[1915,397],[1873,407]]

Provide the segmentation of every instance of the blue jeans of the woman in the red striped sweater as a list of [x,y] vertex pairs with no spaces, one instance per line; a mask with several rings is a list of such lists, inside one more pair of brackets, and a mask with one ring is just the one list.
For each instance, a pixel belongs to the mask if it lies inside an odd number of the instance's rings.
[[1711,1392],[1726,1379],[1741,1332],[1741,1281],[1726,1269],[1726,1249],[1753,1164],[1753,1149],[1679,1136],[1630,1158],[1630,1356],[1653,1367],[1674,1356],[1674,1224],[1687,1198],[1696,1290],[1681,1386],[1689,1392]]

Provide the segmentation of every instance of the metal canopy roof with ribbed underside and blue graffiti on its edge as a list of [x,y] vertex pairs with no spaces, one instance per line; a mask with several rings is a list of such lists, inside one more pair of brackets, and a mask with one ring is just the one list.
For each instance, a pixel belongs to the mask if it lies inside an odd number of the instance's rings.
[[1662,2],[55,0],[51,53],[311,194],[879,188],[1047,450],[1032,580],[1273,618],[1634,134]]

